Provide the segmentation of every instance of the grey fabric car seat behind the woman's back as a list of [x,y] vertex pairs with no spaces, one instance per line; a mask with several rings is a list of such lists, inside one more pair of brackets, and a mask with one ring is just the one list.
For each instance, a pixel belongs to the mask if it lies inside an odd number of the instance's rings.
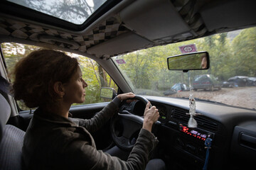
[[25,132],[14,125],[6,125],[10,115],[11,107],[6,98],[0,94],[0,169],[20,170],[22,169],[21,151]]

